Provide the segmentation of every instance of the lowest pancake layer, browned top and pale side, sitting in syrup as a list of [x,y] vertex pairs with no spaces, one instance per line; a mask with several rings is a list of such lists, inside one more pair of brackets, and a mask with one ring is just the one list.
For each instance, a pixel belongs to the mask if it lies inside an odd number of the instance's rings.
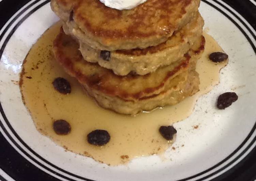
[[[62,29],[54,41],[53,51],[56,60],[65,71],[75,77],[100,105],[119,113],[136,114],[156,106],[175,104],[198,91],[198,88],[191,88],[188,85],[198,87],[199,83],[196,83],[199,82],[198,75],[193,71],[197,59],[204,50],[204,45],[205,39],[201,36],[180,61],[144,76],[133,74],[118,76],[109,69],[85,61],[78,50],[79,45],[76,40],[66,35]],[[195,81],[188,78],[188,74],[194,75]],[[188,91],[184,92],[185,89]],[[174,95],[182,96],[176,98],[173,97]],[[169,99],[161,100],[161,97],[169,97]],[[150,100],[152,100],[151,106]],[[119,105],[124,107],[119,108]],[[127,106],[129,109],[125,109],[128,108]]]

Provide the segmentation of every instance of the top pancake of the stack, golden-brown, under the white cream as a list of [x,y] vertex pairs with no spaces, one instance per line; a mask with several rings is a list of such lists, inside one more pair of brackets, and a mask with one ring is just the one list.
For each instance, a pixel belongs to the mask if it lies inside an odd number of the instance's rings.
[[99,0],[51,0],[73,35],[95,49],[146,48],[165,42],[197,12],[200,0],[148,0],[115,10]]

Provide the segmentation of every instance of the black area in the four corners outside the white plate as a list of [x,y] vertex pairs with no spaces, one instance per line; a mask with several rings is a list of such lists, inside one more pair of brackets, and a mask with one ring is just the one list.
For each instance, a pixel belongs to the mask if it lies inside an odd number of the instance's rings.
[[[3,0],[0,2],[0,29],[5,22],[29,0]],[[256,30],[256,6],[249,0],[223,0],[236,9]],[[255,1],[255,0],[254,0]],[[246,120],[245,120],[246,121]],[[0,133],[0,168],[17,181],[56,181],[24,159]],[[0,180],[4,178],[0,176]],[[256,148],[228,173],[214,179],[225,181],[256,180]]]

